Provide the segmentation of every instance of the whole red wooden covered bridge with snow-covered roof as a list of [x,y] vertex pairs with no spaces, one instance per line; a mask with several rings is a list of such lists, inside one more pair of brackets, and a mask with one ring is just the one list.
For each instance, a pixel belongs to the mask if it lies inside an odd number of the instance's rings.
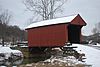
[[61,47],[65,43],[81,43],[82,17],[71,15],[35,22],[26,27],[29,47]]

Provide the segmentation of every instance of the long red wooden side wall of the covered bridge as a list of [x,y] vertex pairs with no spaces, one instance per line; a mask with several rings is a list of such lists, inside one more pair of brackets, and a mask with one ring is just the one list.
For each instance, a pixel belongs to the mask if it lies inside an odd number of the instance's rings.
[[67,40],[67,24],[50,25],[28,30],[29,47],[64,46]]

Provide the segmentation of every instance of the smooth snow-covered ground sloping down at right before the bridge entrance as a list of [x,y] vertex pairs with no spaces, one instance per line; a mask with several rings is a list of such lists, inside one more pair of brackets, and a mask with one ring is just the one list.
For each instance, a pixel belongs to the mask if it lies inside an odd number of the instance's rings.
[[73,44],[73,46],[78,46],[76,50],[77,51],[81,50],[82,53],[85,53],[85,56],[87,58],[85,59],[86,64],[92,65],[92,67],[100,66],[100,50],[80,44]]

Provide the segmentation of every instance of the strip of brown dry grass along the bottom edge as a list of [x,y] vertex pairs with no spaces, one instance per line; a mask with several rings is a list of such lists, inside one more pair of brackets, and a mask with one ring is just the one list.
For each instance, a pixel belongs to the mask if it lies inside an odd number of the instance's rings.
[[68,66],[65,63],[32,63],[21,65],[19,67],[85,67],[83,64],[77,64],[75,66]]

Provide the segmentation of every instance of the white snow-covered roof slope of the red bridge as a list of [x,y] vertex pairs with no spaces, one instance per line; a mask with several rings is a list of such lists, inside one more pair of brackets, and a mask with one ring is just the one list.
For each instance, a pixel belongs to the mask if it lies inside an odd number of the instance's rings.
[[35,23],[32,23],[29,26],[27,26],[25,29],[40,27],[40,26],[46,26],[46,25],[60,24],[60,23],[68,23],[68,22],[71,22],[77,15],[70,15],[70,16],[67,16],[67,17],[35,22]]

